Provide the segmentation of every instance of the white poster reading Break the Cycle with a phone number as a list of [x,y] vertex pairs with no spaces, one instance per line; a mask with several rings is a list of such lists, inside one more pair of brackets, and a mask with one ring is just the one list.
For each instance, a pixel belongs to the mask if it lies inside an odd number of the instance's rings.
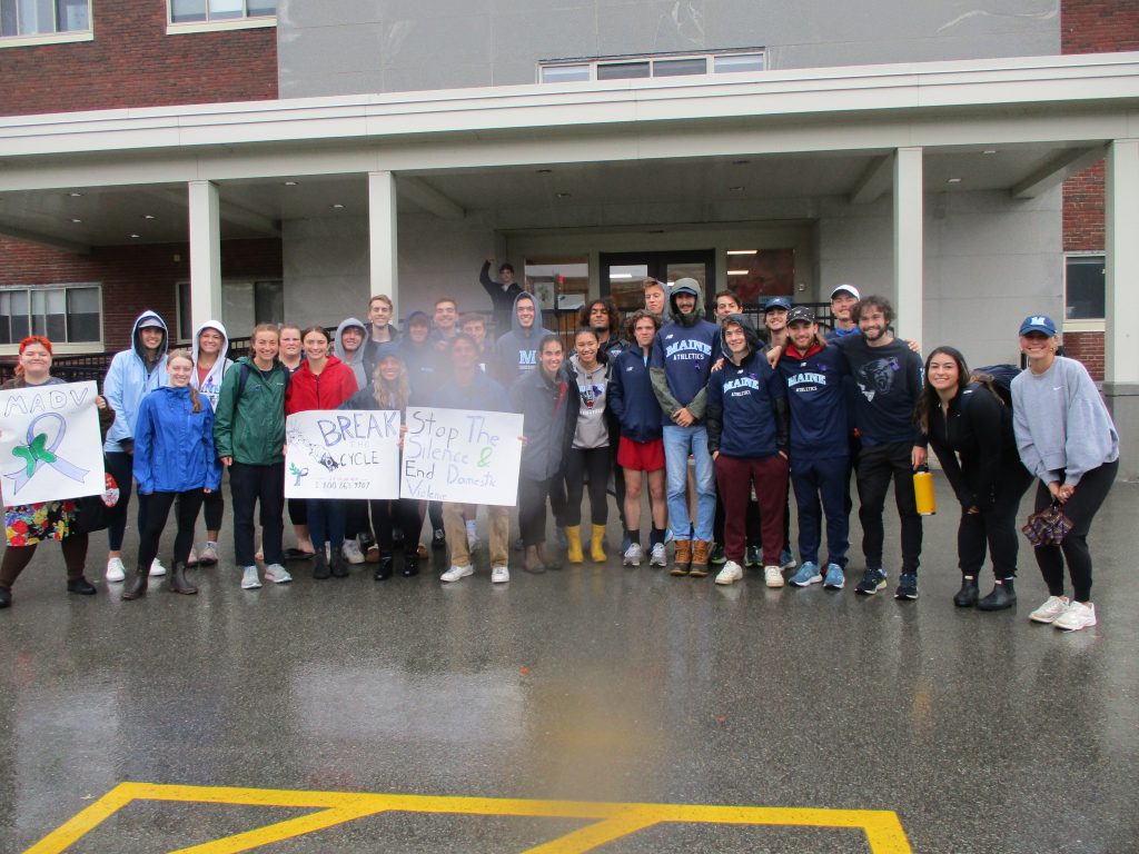
[[285,496],[400,496],[398,410],[310,410],[285,420]]

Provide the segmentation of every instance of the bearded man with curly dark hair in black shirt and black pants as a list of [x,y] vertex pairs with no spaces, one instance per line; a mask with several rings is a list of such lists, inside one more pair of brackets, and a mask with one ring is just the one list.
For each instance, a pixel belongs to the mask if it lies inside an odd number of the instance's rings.
[[921,358],[890,331],[894,307],[886,297],[863,298],[854,309],[854,320],[861,335],[847,335],[835,344],[858,385],[851,416],[862,441],[857,476],[866,574],[855,591],[872,596],[886,586],[882,512],[892,479],[902,523],[902,574],[894,598],[917,599],[921,517],[913,496],[913,471],[926,462],[926,441],[913,421],[913,407],[924,381]]

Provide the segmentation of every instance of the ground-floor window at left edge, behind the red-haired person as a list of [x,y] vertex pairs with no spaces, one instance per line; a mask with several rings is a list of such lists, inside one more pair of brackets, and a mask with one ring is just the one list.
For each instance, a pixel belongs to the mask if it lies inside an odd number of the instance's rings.
[[97,343],[103,337],[98,285],[0,289],[0,344],[43,335],[54,344]]

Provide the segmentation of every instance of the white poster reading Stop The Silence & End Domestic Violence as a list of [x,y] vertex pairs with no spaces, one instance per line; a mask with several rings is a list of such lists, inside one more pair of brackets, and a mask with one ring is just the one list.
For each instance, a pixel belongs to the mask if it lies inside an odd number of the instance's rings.
[[400,495],[514,507],[522,416],[408,407]]

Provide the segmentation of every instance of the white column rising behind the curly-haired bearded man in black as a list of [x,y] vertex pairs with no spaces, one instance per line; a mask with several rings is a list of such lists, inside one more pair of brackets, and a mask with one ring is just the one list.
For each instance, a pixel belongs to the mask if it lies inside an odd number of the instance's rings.
[[921,149],[894,153],[894,287],[899,337],[921,342],[925,302],[923,265],[925,236],[921,225]]

